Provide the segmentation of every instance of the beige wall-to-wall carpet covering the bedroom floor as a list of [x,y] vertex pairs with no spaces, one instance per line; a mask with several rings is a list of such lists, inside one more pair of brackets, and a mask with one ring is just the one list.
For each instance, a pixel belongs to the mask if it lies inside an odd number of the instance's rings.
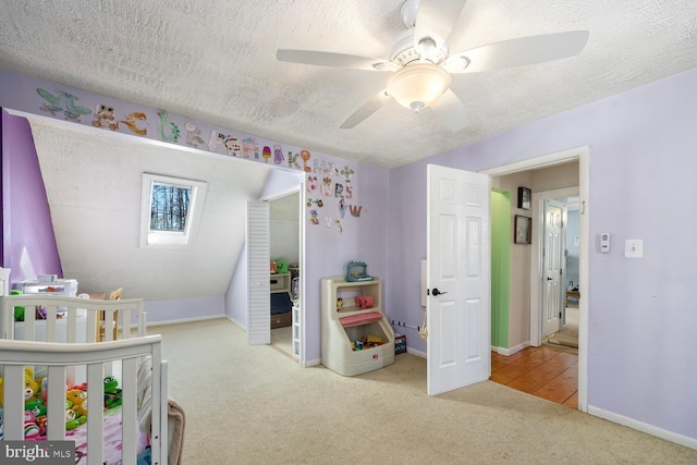
[[695,464],[697,451],[491,381],[426,395],[411,354],[358,377],[246,345],[227,319],[159,326],[184,464]]

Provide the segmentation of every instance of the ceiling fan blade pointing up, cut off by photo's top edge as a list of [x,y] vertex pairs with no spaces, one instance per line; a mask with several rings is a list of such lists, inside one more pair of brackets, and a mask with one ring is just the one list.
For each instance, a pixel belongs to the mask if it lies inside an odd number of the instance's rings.
[[465,0],[420,0],[414,30],[414,46],[430,37],[440,48],[450,36],[457,17],[465,5]]

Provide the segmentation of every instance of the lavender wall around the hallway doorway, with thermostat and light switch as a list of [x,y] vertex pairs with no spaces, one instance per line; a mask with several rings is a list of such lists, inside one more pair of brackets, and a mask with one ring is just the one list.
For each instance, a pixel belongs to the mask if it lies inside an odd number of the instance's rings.
[[[392,308],[419,321],[426,163],[472,171],[590,146],[588,403],[697,446],[697,70],[390,171]],[[408,215],[407,215],[408,213]],[[596,249],[612,234],[609,254]],[[644,240],[644,258],[624,241]]]

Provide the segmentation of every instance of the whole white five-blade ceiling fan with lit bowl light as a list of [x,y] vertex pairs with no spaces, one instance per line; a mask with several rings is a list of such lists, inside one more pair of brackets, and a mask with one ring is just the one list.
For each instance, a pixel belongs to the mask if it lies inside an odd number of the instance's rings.
[[522,37],[450,53],[447,38],[465,0],[406,0],[401,14],[407,30],[389,60],[316,50],[279,49],[279,61],[369,71],[389,71],[387,87],[353,112],[341,129],[351,129],[391,98],[418,112],[431,108],[452,131],[467,125],[465,108],[450,89],[451,75],[523,66],[573,57],[588,41],[587,30]]

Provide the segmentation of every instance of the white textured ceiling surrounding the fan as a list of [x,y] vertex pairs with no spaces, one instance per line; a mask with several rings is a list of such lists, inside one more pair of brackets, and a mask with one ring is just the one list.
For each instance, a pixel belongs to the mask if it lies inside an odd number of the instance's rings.
[[694,0],[469,0],[451,51],[587,29],[580,54],[457,75],[456,133],[391,101],[341,122],[384,87],[379,72],[283,63],[279,48],[387,58],[401,0],[9,0],[0,68],[329,155],[396,167],[697,66]]

